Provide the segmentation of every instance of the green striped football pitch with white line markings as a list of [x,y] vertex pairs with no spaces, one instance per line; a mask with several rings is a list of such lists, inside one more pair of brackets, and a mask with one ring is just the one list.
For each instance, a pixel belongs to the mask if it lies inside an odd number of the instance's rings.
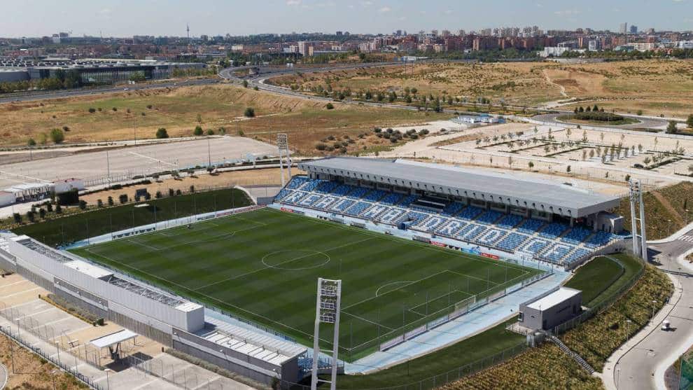
[[[73,252],[304,344],[312,342],[318,277],[342,279],[339,347],[354,358],[448,314],[458,302],[537,273],[274,209]],[[331,331],[321,328],[322,347],[330,347]]]

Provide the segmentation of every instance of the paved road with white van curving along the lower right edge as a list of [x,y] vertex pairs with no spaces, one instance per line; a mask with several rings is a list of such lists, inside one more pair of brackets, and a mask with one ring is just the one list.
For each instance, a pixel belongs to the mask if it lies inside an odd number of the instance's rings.
[[679,350],[693,342],[693,274],[690,265],[677,260],[692,248],[693,230],[672,242],[650,246],[652,259],[680,285],[680,299],[671,302],[673,308],[668,307],[671,312],[666,316],[675,330],[666,332],[657,326],[617,361],[612,372],[617,389],[657,388],[657,376],[663,377],[664,370],[682,353]]

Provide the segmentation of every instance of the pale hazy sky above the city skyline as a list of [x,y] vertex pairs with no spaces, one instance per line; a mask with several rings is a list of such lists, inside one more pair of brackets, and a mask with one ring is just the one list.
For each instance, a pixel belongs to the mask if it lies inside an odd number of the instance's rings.
[[[693,30],[693,0],[0,0],[0,36],[388,33],[538,25]],[[12,4],[10,6],[10,4]]]

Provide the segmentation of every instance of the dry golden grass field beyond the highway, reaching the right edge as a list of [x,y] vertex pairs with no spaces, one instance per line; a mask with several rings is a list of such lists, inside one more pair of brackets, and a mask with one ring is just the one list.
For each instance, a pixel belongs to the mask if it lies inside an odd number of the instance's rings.
[[[693,111],[693,61],[640,60],[595,64],[512,62],[495,64],[417,64],[414,67],[330,71],[273,78],[277,85],[311,90],[318,85],[353,92],[416,88],[419,95],[488,97],[507,104],[535,106],[568,97],[597,100],[605,109],[644,115],[685,117]],[[565,95],[561,93],[563,91]],[[582,103],[583,105],[586,103]],[[579,106],[580,104],[577,104]],[[566,106],[573,109],[573,106]]]

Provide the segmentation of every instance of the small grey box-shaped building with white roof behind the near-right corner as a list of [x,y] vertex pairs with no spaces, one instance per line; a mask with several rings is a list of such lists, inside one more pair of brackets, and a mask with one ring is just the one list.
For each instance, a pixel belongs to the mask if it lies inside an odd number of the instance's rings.
[[560,287],[519,306],[518,323],[524,328],[549,330],[580,314],[582,291]]

